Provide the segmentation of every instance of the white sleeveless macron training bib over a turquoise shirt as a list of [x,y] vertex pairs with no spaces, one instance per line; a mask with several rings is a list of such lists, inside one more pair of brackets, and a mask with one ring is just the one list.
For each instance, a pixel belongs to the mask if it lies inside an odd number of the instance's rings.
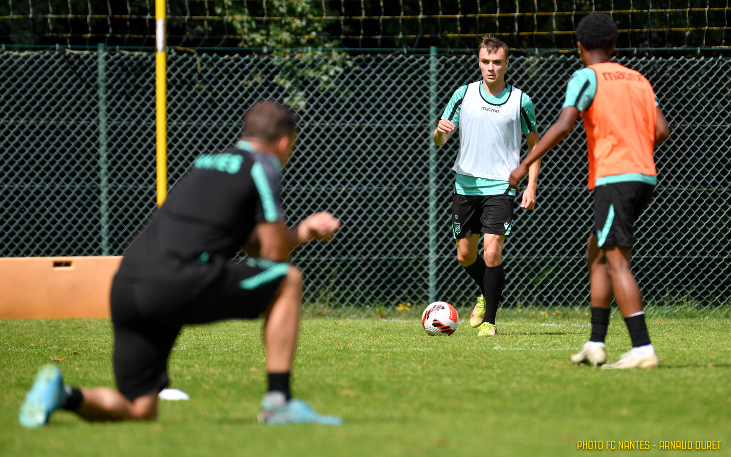
[[507,181],[520,164],[523,92],[510,86],[507,100],[493,105],[482,97],[480,84],[482,80],[470,83],[462,100],[460,148],[452,170],[460,175]]

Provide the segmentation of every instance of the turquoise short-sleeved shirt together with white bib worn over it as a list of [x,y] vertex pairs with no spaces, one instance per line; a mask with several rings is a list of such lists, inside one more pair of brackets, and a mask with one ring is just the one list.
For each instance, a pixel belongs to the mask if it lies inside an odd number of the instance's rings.
[[[460,129],[460,152],[452,167],[457,173],[455,192],[507,192],[510,172],[520,163],[521,135],[536,131],[530,97],[510,85],[493,97],[479,80],[455,91],[442,118]],[[515,195],[515,189],[510,194]]]

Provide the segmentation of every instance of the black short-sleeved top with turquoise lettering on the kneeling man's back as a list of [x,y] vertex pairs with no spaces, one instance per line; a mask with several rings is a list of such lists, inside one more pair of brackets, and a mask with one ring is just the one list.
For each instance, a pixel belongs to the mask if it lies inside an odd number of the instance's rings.
[[280,167],[246,141],[202,154],[126,250],[117,275],[155,284],[213,279],[257,223],[284,221]]

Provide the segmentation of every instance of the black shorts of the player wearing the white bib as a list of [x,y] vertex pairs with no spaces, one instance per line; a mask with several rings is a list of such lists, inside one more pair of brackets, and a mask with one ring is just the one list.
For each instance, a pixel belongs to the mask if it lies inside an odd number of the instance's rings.
[[455,240],[474,233],[510,235],[515,195],[452,195]]

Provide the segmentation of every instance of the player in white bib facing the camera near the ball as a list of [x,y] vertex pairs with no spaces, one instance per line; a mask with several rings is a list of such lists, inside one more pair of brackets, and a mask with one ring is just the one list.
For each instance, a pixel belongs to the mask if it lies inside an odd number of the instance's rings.
[[[528,151],[538,141],[531,98],[505,82],[507,45],[487,36],[478,48],[482,78],[458,88],[433,133],[437,146],[450,139],[459,126],[460,150],[454,167],[452,231],[457,260],[482,292],[469,318],[480,328],[478,336],[496,333],[495,317],[505,284],[502,248],[512,230],[515,189],[508,186],[510,172],[520,162],[522,135]],[[533,209],[540,161],[531,165],[529,184],[521,208]],[[484,233],[484,260],[477,261],[477,243]]]

